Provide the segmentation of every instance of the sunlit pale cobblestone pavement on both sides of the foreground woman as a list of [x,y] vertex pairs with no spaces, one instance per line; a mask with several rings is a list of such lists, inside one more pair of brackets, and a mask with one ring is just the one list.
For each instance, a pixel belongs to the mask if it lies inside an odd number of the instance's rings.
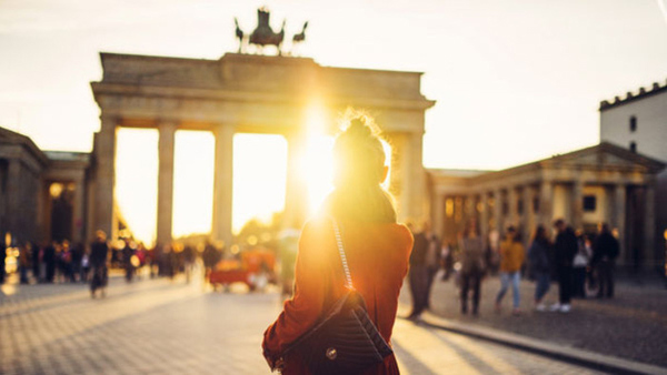
[[[0,374],[268,374],[261,333],[278,293],[215,293],[201,283],[111,277],[86,285],[3,285]],[[404,374],[566,374],[587,369],[397,320]]]

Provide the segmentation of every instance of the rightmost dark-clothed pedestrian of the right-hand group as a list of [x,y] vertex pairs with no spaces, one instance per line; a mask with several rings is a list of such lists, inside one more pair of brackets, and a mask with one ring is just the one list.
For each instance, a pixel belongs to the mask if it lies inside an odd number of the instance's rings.
[[614,265],[620,246],[618,240],[611,234],[609,225],[603,223],[598,226],[598,237],[594,245],[591,265],[598,273],[597,297],[614,297]]

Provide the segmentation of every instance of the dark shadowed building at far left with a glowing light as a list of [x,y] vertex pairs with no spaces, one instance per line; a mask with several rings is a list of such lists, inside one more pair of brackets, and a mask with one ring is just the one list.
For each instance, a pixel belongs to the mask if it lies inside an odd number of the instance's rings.
[[88,153],[41,151],[0,128],[0,233],[19,243],[84,241],[89,166]]

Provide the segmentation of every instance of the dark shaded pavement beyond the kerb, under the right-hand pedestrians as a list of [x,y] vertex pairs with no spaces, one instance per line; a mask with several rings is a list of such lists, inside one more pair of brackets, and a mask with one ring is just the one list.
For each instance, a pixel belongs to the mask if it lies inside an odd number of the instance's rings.
[[[617,283],[615,298],[573,300],[573,311],[569,314],[560,314],[535,312],[535,283],[522,280],[522,314],[512,316],[511,287],[505,295],[501,312],[495,312],[494,303],[500,283],[498,277],[490,276],[482,282],[480,314],[478,317],[471,317],[460,314],[459,294],[454,280],[441,282],[439,276],[434,284],[430,300],[431,311],[436,315],[667,367],[667,290],[660,283],[638,284],[629,280],[621,281]],[[554,303],[557,300],[558,285],[552,283],[545,301]],[[410,303],[407,287],[404,287],[401,302]]]

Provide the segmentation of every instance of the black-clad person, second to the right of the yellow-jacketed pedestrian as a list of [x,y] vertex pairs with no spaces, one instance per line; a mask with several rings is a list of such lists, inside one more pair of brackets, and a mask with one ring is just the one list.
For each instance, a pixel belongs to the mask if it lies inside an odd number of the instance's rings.
[[571,310],[573,262],[579,250],[577,235],[571,226],[563,219],[554,222],[557,231],[554,243],[554,265],[558,277],[558,302],[551,305],[551,311],[569,313]]

